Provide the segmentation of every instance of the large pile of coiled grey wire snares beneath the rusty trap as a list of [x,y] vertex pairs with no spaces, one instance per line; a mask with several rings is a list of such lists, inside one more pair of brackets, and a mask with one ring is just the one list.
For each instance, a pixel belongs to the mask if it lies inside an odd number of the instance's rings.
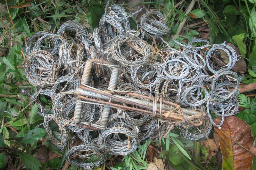
[[[112,4],[94,30],[67,21],[57,34],[37,32],[26,41],[28,55],[23,70],[29,83],[36,87],[31,103],[39,104],[38,114],[44,117],[43,126],[52,143],[62,150],[68,145],[67,160],[74,166],[88,169],[99,166],[107,159],[107,154],[127,155],[135,151],[141,141],[165,136],[175,127],[181,136],[198,140],[209,135],[212,124],[220,127],[225,116],[238,112],[237,90],[241,77],[230,70],[237,61],[233,48],[193,39],[187,45],[175,41],[183,49],[178,51],[162,39],[169,28],[160,12],[148,11],[142,16],[138,27],[142,36],[130,29],[130,16],[122,7]],[[158,50],[150,45],[154,44],[153,40],[164,48]],[[227,65],[215,62],[220,50],[229,57]],[[193,115],[183,114],[184,121],[166,121],[111,108],[105,130],[78,126],[73,122],[78,99],[74,92],[80,85],[85,62],[90,59],[120,66],[116,90],[199,110],[204,123],[200,127],[193,126],[191,121],[200,121]],[[109,68],[94,64],[90,86],[106,90],[110,76]],[[230,92],[230,88],[234,91]],[[46,107],[43,99],[52,101],[52,107]],[[102,105],[83,103],[81,121],[100,122],[102,110]],[[213,122],[216,115],[222,116],[219,125]],[[59,135],[51,129],[54,124]],[[70,137],[70,134],[73,135]]]

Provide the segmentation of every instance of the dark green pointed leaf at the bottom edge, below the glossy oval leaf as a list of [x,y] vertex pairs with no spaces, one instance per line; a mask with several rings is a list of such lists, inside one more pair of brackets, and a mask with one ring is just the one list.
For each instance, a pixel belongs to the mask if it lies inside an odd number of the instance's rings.
[[33,169],[33,170],[39,170],[39,167],[42,166],[40,161],[36,157],[34,157],[32,155],[29,155],[27,153],[18,153],[18,154],[19,154],[19,157],[21,159],[21,162],[27,168],[30,168],[30,169]]

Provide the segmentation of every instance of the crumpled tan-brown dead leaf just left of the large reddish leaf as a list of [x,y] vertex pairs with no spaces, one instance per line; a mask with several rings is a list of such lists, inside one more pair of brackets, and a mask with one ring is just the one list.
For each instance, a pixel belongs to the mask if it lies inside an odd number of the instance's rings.
[[215,157],[218,152],[218,147],[214,140],[206,139],[201,142],[201,145],[205,147],[206,155],[205,155],[205,163],[209,163],[212,157]]

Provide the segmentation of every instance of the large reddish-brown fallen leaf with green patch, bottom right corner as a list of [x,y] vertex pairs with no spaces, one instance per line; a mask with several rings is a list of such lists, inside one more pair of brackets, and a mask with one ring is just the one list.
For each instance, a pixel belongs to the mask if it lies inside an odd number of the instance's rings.
[[[214,122],[219,124],[221,117]],[[250,126],[238,117],[228,116],[225,117],[221,129],[214,129],[219,137],[222,169],[252,169],[255,146]]]

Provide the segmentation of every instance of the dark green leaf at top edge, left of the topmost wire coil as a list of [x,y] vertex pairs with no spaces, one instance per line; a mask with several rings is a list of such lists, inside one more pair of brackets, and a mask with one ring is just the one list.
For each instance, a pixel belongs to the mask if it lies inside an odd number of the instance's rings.
[[93,29],[99,26],[100,18],[105,13],[103,5],[89,3],[90,17]]

